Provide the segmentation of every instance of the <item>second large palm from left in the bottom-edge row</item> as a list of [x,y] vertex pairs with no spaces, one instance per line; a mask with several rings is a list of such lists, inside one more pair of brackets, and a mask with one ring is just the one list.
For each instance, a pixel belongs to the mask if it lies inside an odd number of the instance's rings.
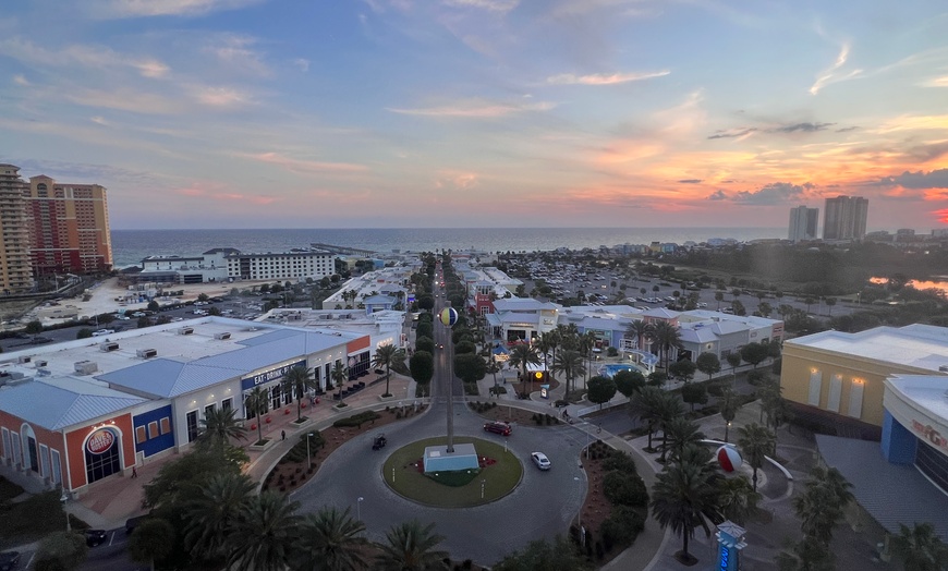
[[228,535],[228,569],[285,570],[296,540],[297,507],[285,494],[277,491],[252,496]]

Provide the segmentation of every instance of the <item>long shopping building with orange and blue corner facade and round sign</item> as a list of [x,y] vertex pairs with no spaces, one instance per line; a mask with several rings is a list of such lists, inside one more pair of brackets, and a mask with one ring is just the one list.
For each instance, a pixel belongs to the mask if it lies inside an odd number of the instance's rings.
[[[325,389],[337,364],[368,373],[373,336],[205,317],[64,343],[0,361],[0,461],[48,486],[82,494],[134,465],[186,450],[217,408],[250,417],[246,396],[268,409],[297,365]],[[386,339],[386,342],[391,342]]]

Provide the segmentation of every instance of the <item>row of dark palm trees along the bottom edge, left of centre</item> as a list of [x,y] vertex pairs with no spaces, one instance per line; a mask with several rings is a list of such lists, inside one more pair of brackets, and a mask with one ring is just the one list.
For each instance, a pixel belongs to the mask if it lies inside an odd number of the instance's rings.
[[[365,524],[350,510],[324,507],[299,514],[299,503],[271,490],[259,495],[244,474],[218,474],[205,482],[184,513],[184,547],[198,561],[224,562],[232,571],[392,571],[448,569],[443,537],[434,524],[411,520],[393,525],[386,540],[372,543]],[[130,550],[139,560],[167,557],[173,527],[147,520],[132,535]],[[170,536],[169,536],[170,535]]]

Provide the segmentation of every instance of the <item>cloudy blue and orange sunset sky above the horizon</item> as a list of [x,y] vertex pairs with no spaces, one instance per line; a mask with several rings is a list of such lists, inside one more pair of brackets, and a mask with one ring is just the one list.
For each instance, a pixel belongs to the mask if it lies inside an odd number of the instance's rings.
[[0,161],[113,229],[948,226],[944,0],[31,0]]

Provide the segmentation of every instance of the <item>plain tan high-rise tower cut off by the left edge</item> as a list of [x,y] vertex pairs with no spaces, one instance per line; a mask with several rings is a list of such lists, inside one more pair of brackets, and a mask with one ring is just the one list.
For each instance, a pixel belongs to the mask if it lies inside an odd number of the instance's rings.
[[33,289],[29,264],[29,231],[26,226],[26,183],[20,178],[20,167],[0,165],[0,290],[3,294]]

